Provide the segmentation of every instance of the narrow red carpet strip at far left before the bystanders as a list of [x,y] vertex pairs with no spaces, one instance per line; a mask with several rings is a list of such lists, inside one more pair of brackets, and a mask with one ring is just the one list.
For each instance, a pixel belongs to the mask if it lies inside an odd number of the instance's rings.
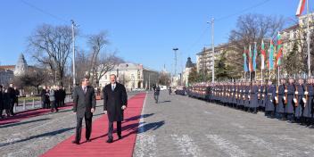
[[[67,104],[65,104],[64,107],[59,107],[58,109],[59,110],[68,109],[72,106],[73,106],[73,103],[67,103]],[[50,111],[51,111],[50,109],[35,109],[35,110],[26,111],[26,112],[19,112],[15,116],[0,119],[0,126],[4,125],[4,124],[20,122],[21,120],[25,120],[25,119],[28,119],[30,117],[43,115],[43,114],[50,112]]]

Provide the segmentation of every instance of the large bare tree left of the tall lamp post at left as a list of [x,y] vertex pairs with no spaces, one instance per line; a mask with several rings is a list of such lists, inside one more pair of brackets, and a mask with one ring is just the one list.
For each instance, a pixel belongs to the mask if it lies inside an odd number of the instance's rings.
[[29,37],[28,43],[32,57],[56,72],[59,84],[63,86],[64,68],[71,53],[71,28],[44,24]]

